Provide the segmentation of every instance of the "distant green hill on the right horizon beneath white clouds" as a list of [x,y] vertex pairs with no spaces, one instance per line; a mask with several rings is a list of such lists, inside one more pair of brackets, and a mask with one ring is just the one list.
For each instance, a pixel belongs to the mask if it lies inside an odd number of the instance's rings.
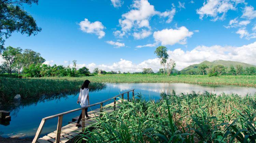
[[225,67],[228,67],[228,69],[229,69],[229,66],[230,66],[230,65],[233,65],[234,67],[235,67],[236,65],[242,65],[243,68],[246,68],[246,67],[256,67],[255,65],[246,64],[246,63],[242,63],[242,62],[225,61],[225,60],[215,60],[215,61],[212,61],[212,62],[203,61],[203,62],[200,63],[200,64],[190,65],[190,66],[188,66],[188,67],[182,69],[181,72],[186,72],[186,71],[188,71],[188,70],[193,70],[193,71],[195,71],[196,73],[200,73],[200,70],[199,70],[198,67],[199,67],[200,65],[202,65],[202,64],[208,65],[209,68],[212,68],[212,67],[214,67],[214,66],[216,66],[216,65],[223,65],[223,66],[225,66]]

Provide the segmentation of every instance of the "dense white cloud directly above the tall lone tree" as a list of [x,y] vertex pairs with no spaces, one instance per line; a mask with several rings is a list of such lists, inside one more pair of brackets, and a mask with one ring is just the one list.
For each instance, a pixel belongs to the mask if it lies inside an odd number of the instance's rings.
[[176,43],[186,44],[187,37],[190,37],[193,34],[193,32],[182,26],[177,29],[163,29],[161,31],[156,31],[153,36],[155,41],[161,42],[162,45],[174,45]]

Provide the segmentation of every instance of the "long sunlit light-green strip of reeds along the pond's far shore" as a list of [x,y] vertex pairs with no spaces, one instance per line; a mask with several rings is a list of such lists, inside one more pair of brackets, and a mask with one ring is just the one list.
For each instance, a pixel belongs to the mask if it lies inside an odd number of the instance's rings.
[[[46,78],[59,79],[59,78]],[[209,77],[203,75],[155,75],[155,74],[120,74],[120,75],[96,75],[89,77],[60,79],[89,79],[93,82],[114,82],[114,83],[134,83],[134,82],[183,82],[198,84],[226,84],[256,87],[256,76],[218,76]]]

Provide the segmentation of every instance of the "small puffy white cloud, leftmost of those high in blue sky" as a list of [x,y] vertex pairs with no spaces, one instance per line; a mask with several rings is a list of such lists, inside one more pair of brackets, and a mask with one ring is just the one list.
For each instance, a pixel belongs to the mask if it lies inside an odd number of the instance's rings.
[[79,23],[80,29],[86,33],[94,33],[98,35],[98,38],[105,36],[103,29],[105,28],[100,21],[90,22],[88,19],[84,19]]

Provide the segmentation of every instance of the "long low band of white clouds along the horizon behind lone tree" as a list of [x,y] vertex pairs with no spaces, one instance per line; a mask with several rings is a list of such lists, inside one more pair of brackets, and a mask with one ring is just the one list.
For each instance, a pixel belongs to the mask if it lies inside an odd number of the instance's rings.
[[[214,45],[211,47],[197,46],[190,51],[184,51],[178,48],[174,50],[168,50],[168,54],[170,58],[176,62],[176,69],[179,70],[191,64],[201,63],[205,60],[230,60],[256,65],[256,42],[241,47],[219,45]],[[132,61],[120,59],[120,61],[110,65],[96,65],[94,63],[88,65],[77,65],[78,68],[81,68],[82,66],[86,66],[90,69],[90,71],[93,71],[95,67],[98,67],[99,69],[106,71],[120,70],[121,72],[141,72],[142,68],[152,68],[154,72],[157,72],[159,68],[162,68],[160,66],[160,60],[158,58],[144,60],[139,64],[134,64]]]

